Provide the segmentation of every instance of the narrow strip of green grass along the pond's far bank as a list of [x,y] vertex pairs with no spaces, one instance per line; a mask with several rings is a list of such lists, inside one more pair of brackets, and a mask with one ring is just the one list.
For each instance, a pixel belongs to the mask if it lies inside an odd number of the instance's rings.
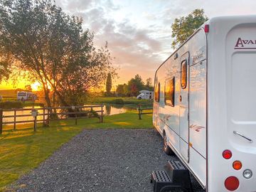
[[124,104],[153,104],[152,100],[137,100],[135,97],[92,97],[87,103],[111,103],[115,104],[116,100],[122,99]]

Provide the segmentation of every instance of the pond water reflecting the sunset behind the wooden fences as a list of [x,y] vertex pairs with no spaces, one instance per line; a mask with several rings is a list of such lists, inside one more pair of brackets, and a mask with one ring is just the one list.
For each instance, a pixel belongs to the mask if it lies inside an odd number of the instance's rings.
[[[124,112],[128,112],[130,110],[137,110],[138,105],[132,105],[132,104],[127,104],[127,105],[118,105],[118,104],[105,104],[103,107],[103,114],[104,115],[112,115],[112,114],[120,114]],[[144,105],[144,107],[151,107],[151,105]],[[41,108],[41,107],[35,107],[36,109]],[[31,107],[23,107],[23,109],[31,109]],[[94,110],[101,110],[100,107],[94,108]],[[42,110],[38,110],[39,114],[42,114]],[[47,112],[46,112],[47,113]],[[23,115],[23,114],[31,114],[31,111],[17,111],[16,115]],[[4,116],[9,116],[9,115],[14,115],[14,112],[4,112]],[[43,119],[43,116],[38,116],[38,120]],[[28,120],[33,120],[33,117],[16,117],[16,121],[28,121]],[[8,117],[4,118],[3,122],[12,122],[14,121],[14,117]]]

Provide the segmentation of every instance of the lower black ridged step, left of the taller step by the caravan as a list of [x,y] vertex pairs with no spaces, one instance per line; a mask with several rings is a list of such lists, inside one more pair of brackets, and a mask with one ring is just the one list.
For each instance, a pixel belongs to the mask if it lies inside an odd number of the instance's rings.
[[151,183],[154,184],[154,192],[167,192],[181,186],[174,185],[166,171],[153,171]]

